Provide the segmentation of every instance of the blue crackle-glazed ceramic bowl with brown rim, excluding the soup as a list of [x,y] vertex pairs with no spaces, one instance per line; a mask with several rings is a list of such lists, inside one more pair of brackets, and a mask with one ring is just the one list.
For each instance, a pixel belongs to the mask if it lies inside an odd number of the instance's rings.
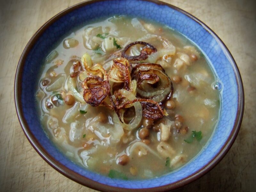
[[[55,43],[95,18],[129,15],[167,25],[198,45],[222,82],[220,120],[205,149],[180,170],[148,180],[117,180],[86,170],[64,156],[47,138],[36,113],[40,65]],[[181,187],[210,171],[233,144],[243,117],[244,92],[236,63],[220,38],[189,13],[155,0],[92,0],[72,6],[46,22],[28,42],[15,78],[15,104],[20,124],[36,151],[53,168],[90,188],[104,191],[165,191]]]

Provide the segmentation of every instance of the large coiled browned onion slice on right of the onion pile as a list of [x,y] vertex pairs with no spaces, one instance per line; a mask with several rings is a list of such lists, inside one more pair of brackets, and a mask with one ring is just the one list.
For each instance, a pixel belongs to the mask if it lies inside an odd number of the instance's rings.
[[173,90],[171,79],[158,64],[137,64],[132,78],[137,81],[137,95],[156,103],[162,102]]

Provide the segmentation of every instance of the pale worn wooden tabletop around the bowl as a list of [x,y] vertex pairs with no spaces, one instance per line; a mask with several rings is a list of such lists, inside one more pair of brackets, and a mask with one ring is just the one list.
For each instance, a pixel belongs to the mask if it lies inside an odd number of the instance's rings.
[[[14,106],[20,55],[31,36],[79,0],[10,0],[0,7],[0,191],[93,191],[48,165],[26,139]],[[211,172],[179,191],[256,190],[256,1],[171,0],[202,20],[224,41],[244,82],[245,110],[233,147]]]

